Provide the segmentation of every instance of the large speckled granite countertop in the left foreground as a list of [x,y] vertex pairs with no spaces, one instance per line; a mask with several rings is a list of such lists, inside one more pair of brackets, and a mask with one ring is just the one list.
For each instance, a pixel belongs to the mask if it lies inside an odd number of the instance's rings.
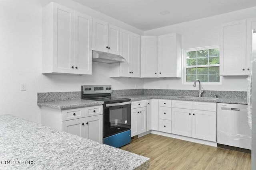
[[0,169],[145,170],[150,165],[144,156],[13,115],[0,115],[0,136]]

